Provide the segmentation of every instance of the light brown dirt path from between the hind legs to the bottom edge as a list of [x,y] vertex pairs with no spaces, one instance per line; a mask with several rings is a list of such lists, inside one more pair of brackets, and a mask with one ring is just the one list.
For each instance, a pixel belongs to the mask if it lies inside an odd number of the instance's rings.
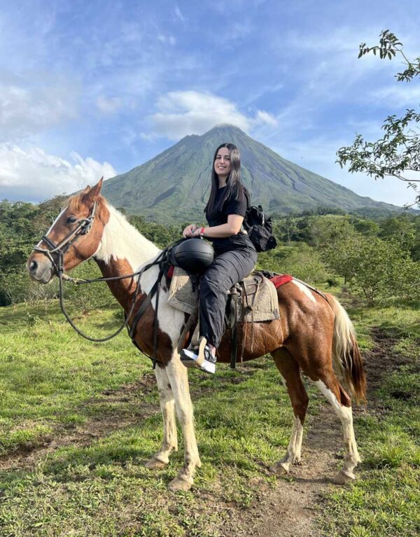
[[337,486],[332,477],[337,472],[341,434],[335,414],[325,405],[311,419],[302,463],[294,465],[287,477],[279,477],[274,488],[263,484],[248,510],[232,508],[223,537],[321,537],[316,517],[321,492]]

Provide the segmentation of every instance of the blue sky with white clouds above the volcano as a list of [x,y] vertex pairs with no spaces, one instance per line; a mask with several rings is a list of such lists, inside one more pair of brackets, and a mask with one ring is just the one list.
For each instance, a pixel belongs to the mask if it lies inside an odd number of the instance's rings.
[[0,200],[71,193],[231,123],[359,195],[413,202],[335,153],[418,108],[401,61],[358,46],[390,29],[415,58],[419,26],[418,0],[0,0]]

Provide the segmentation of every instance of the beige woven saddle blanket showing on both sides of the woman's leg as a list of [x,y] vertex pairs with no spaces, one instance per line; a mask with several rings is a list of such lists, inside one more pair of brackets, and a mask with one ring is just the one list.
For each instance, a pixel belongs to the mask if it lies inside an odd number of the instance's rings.
[[[252,274],[248,279],[252,281]],[[255,291],[255,284],[251,287]],[[228,291],[226,289],[226,293]],[[169,288],[169,305],[180,309],[181,312],[195,314],[198,309],[198,300],[197,286],[193,287],[190,277],[184,270],[180,267],[175,267]],[[245,308],[242,306],[242,302],[244,302]],[[262,277],[260,283],[258,283],[256,296],[250,295],[248,296],[248,300],[246,298],[243,300],[240,297],[237,306],[237,320],[239,322],[245,321],[251,323],[280,319],[276,287],[272,284],[272,281],[269,281],[265,277]]]

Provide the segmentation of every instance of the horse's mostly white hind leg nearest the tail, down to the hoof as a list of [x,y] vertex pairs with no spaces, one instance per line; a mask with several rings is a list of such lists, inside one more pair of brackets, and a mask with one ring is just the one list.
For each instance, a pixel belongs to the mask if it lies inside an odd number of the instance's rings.
[[316,380],[315,384],[321,390],[325,398],[331,403],[332,408],[342,422],[346,456],[344,466],[335,477],[335,482],[351,482],[355,479],[353,469],[356,468],[357,464],[361,461],[358,454],[356,438],[354,436],[351,399],[346,394],[341,384],[339,384],[332,368],[330,371],[321,375],[321,378]]

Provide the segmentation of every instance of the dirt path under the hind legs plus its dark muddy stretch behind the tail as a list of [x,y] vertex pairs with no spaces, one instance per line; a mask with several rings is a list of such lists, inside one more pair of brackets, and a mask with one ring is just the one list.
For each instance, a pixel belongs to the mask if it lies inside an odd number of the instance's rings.
[[[367,405],[353,407],[353,415],[386,412],[374,397],[381,378],[411,363],[395,353],[397,339],[379,328],[372,329],[374,348],[365,352]],[[402,394],[403,395],[403,394]],[[319,397],[322,397],[321,394]],[[309,403],[309,417],[311,415]],[[317,523],[322,495],[328,487],[338,487],[332,477],[342,466],[342,428],[330,405],[309,419],[307,437],[302,444],[302,464],[293,466],[287,477],[279,477],[274,489],[263,485],[260,495],[248,510],[232,508],[230,524],[223,537],[324,537]],[[357,473],[357,470],[356,470]]]

